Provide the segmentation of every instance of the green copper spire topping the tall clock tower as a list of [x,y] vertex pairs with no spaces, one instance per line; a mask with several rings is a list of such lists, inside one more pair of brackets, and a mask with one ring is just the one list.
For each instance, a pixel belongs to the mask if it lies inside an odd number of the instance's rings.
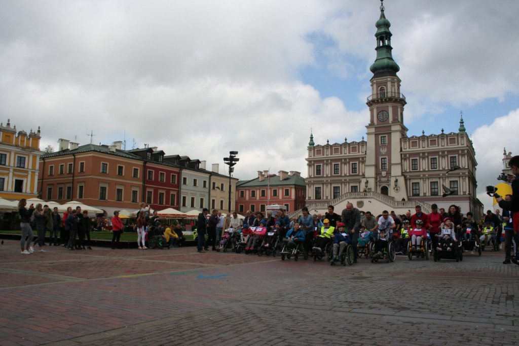
[[384,73],[386,75],[397,75],[400,71],[400,66],[393,60],[391,55],[391,31],[389,27],[391,23],[386,19],[384,15],[384,4],[380,5],[380,18],[375,23],[377,32],[375,37],[377,38],[377,58],[375,62],[370,66],[371,72],[374,75]]

